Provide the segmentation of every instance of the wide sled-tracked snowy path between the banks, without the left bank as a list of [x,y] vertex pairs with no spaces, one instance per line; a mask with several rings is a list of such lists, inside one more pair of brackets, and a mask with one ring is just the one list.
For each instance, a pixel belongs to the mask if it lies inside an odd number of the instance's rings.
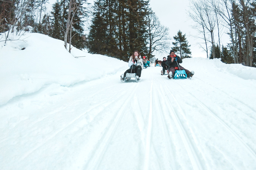
[[2,105],[0,169],[256,169],[255,80],[160,70],[138,83],[118,72],[52,84]]

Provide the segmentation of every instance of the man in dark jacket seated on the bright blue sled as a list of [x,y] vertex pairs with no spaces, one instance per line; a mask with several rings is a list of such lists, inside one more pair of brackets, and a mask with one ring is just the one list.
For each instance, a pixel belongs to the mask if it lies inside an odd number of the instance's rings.
[[175,52],[171,50],[170,55],[167,56],[167,62],[166,62],[166,65],[169,66],[169,75],[167,76],[169,79],[174,77],[175,70],[185,70],[188,78],[194,75],[194,71],[190,72],[189,70],[182,67],[179,63],[182,63],[181,58],[175,55]]

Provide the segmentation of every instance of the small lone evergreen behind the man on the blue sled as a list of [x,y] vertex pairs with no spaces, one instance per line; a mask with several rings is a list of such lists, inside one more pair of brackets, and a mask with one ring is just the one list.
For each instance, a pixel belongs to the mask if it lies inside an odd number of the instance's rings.
[[186,34],[182,35],[182,32],[179,30],[177,33],[177,36],[174,36],[173,38],[175,42],[172,42],[172,44],[174,45],[172,50],[174,50],[175,52],[178,52],[181,59],[191,58],[190,56],[191,52],[189,48],[191,45],[188,45]]

